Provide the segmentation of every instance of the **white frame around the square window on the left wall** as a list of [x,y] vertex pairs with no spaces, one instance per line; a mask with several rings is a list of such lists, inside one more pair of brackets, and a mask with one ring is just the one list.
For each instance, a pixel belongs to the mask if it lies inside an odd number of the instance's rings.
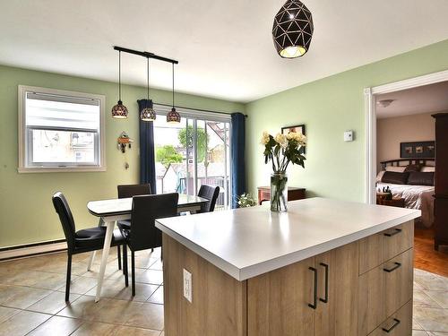
[[[27,162],[27,128],[26,128],[26,93],[32,91],[41,94],[49,94],[55,96],[65,96],[82,99],[96,99],[99,100],[99,148],[95,149],[95,156],[99,155],[98,165],[76,165],[76,166],[29,166]],[[104,107],[106,104],[106,97],[104,95],[40,88],[35,86],[18,86],[18,147],[19,147],[19,173],[50,173],[50,172],[88,172],[88,171],[106,171],[106,127]],[[98,152],[99,151],[99,152]]]

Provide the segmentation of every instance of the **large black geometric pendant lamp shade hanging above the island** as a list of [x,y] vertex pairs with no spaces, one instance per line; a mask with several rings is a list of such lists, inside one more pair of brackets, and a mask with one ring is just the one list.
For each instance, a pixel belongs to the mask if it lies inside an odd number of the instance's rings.
[[304,56],[313,38],[311,12],[298,0],[288,0],[275,15],[272,27],[274,46],[281,57]]

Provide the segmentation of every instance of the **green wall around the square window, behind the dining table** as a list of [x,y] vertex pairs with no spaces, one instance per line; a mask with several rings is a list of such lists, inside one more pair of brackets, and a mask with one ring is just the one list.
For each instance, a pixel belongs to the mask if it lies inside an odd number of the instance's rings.
[[[106,96],[106,172],[19,174],[17,149],[17,86],[31,85],[60,90],[77,90]],[[73,210],[77,228],[94,226],[98,220],[86,209],[94,199],[116,197],[116,185],[138,183],[138,112],[137,99],[146,97],[146,89],[123,87],[122,98],[129,118],[116,120],[110,109],[117,100],[117,85],[56,73],[42,73],[0,65],[0,248],[63,238],[53,210],[51,195],[65,193]],[[151,90],[151,99],[171,102],[171,93]],[[176,95],[177,105],[223,112],[244,111],[244,106],[219,99],[186,94]],[[116,149],[116,138],[126,131],[135,145],[125,154]],[[125,170],[125,161],[130,168]]]

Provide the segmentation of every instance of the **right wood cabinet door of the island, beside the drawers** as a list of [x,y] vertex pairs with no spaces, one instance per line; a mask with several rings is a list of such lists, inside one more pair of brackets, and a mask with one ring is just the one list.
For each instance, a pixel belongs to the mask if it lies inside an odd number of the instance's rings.
[[358,335],[358,242],[315,257],[315,336]]

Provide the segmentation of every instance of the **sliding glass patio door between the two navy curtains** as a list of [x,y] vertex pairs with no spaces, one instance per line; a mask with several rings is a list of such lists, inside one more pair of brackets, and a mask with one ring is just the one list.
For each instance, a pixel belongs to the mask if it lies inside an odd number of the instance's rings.
[[230,116],[176,108],[180,124],[168,124],[170,107],[155,104],[157,193],[197,194],[202,184],[220,186],[215,211],[230,205]]

